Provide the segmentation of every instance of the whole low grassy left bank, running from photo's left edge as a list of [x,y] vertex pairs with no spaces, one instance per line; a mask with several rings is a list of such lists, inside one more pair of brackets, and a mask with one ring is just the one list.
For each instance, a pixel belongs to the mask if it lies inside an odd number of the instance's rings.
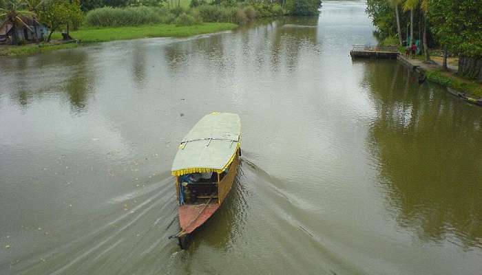
[[[20,56],[50,52],[54,50],[72,49],[89,43],[108,42],[116,40],[143,39],[154,37],[187,37],[198,34],[209,34],[233,30],[238,25],[233,23],[201,23],[191,26],[176,26],[169,24],[141,25],[135,27],[116,28],[83,28],[70,32],[79,43],[42,43],[21,46],[0,46],[0,56]],[[54,33],[52,39],[60,40],[61,34]]]

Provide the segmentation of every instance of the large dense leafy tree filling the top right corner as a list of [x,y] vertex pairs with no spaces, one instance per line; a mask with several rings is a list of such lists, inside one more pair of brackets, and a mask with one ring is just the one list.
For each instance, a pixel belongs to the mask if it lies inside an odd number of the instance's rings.
[[459,55],[459,75],[482,81],[482,1],[430,0],[429,11],[438,41]]

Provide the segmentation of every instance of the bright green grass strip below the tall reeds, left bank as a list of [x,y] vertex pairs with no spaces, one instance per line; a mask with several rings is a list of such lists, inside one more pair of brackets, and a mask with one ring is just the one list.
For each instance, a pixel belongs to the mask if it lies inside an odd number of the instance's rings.
[[[238,25],[233,23],[201,23],[191,26],[176,26],[168,24],[142,25],[136,27],[116,28],[85,28],[70,32],[70,36],[79,39],[81,43],[106,42],[114,40],[142,39],[147,37],[185,37],[196,34],[207,34],[232,30]],[[54,34],[54,39],[60,39],[61,34]]]

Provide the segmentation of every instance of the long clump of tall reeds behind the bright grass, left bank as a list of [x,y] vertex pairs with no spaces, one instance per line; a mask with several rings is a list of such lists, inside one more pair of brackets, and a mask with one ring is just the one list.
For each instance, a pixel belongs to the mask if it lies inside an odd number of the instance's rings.
[[87,12],[87,25],[99,27],[118,27],[144,25],[150,23],[169,23],[173,17],[169,11],[154,7],[97,8]]

